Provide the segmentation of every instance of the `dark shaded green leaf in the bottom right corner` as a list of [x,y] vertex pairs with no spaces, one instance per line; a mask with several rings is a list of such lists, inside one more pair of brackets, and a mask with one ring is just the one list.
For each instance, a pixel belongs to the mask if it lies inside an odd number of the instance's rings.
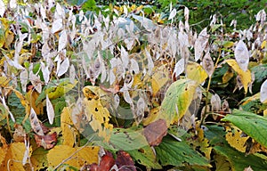
[[244,153],[239,152],[225,144],[223,146],[214,146],[214,150],[225,156],[231,163],[232,170],[243,171],[246,167],[251,167],[253,170],[266,170],[266,160],[260,159],[252,154],[245,156]]

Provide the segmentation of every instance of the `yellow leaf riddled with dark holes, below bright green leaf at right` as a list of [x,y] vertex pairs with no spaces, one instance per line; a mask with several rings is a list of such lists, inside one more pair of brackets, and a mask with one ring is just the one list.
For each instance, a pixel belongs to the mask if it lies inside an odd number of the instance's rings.
[[245,152],[246,151],[246,142],[249,136],[242,137],[242,131],[237,126],[226,127],[225,139],[231,145],[231,147],[235,148],[238,151]]

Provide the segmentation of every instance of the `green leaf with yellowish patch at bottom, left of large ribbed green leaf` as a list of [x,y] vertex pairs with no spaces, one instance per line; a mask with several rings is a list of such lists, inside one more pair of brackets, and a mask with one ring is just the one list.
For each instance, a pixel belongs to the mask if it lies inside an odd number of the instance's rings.
[[152,167],[155,169],[162,168],[156,159],[155,153],[152,151],[150,146],[145,146],[142,149],[136,149],[132,151],[127,151],[130,156],[134,158],[139,164],[145,166],[145,167]]

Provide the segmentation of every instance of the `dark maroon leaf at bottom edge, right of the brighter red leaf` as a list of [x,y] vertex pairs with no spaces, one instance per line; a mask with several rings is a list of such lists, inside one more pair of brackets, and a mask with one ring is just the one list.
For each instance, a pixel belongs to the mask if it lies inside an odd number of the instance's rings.
[[117,151],[116,165],[120,171],[136,171],[134,160],[125,151]]

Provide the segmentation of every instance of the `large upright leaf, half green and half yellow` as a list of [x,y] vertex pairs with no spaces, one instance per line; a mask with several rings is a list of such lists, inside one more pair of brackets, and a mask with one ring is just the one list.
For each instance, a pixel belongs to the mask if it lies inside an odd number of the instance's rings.
[[166,91],[158,118],[166,119],[166,126],[178,122],[189,109],[197,87],[197,82],[190,79],[175,81]]

